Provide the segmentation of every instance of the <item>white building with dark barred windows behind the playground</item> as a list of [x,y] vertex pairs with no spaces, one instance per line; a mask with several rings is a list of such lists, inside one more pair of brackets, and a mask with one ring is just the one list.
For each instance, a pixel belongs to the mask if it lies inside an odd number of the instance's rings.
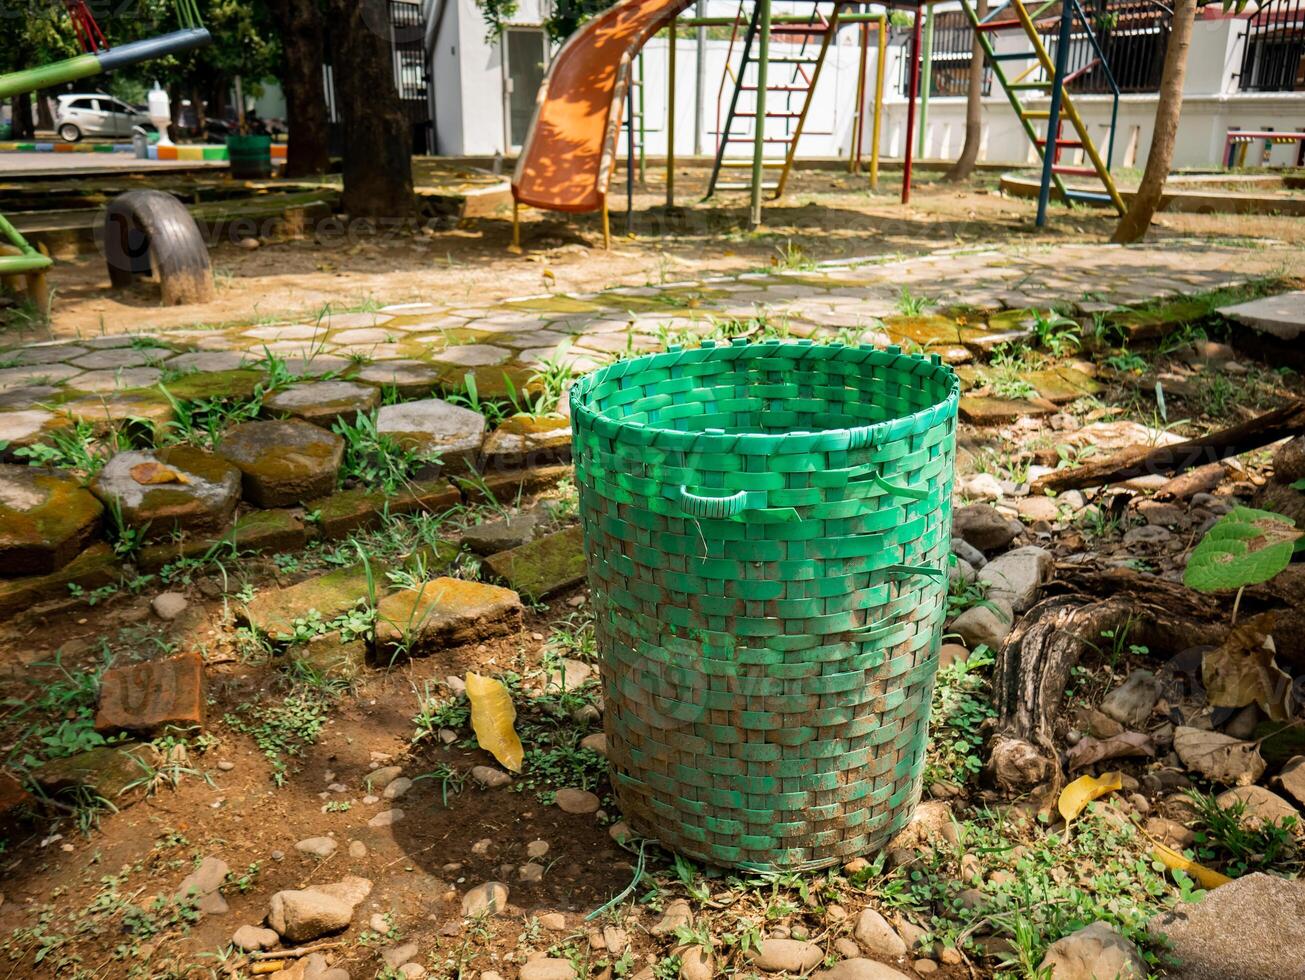
[[[501,38],[488,37],[484,17],[475,0],[425,0],[427,44],[429,52],[429,98],[433,114],[433,149],[444,155],[510,155],[525,138],[534,111],[535,94],[553,51],[543,30],[543,4],[548,0],[521,0]],[[395,4],[401,5],[401,4]],[[402,4],[406,5],[406,4]],[[713,17],[735,17],[736,3],[706,0]],[[822,4],[827,10],[829,4]],[[809,14],[810,3],[776,0],[776,14]],[[851,8],[844,8],[851,9]],[[877,12],[878,7],[867,7]],[[1167,39],[1167,10],[1154,0],[1112,0],[1117,17],[1104,42],[1124,93],[1118,100],[1114,129],[1114,166],[1142,166],[1151,144],[1155,89]],[[745,13],[750,5],[745,8]],[[934,8],[933,95],[924,128],[924,157],[951,159],[964,138],[964,86],[970,60],[970,27],[958,4]],[[686,12],[684,16],[689,16]],[[1053,31],[1048,22],[1045,27]],[[739,43],[732,47],[716,29],[702,44],[705,97],[696,104],[696,76],[699,44],[693,29],[683,27],[677,43],[676,154],[690,155],[696,147],[711,154],[716,149],[719,120],[724,117],[732,81],[726,76],[727,57],[737,64]],[[1045,35],[1044,35],[1045,37]],[[1047,38],[1048,44],[1053,42]],[[844,26],[831,46],[812,99],[806,127],[797,155],[804,158],[847,157],[852,150],[856,125],[856,91],[861,61],[861,30]],[[774,52],[793,38],[776,38]],[[890,30],[885,65],[885,116],[881,153],[900,157],[906,132],[906,64],[910,59],[911,30]],[[998,35],[1002,51],[1030,50],[1021,31]],[[869,31],[867,111],[872,112],[877,42]],[[1073,54],[1074,59],[1079,55]],[[1258,12],[1223,14],[1207,8],[1195,25],[1188,65],[1182,124],[1178,134],[1176,167],[1212,167],[1221,163],[1224,138],[1229,129],[1305,130],[1305,0],[1274,0]],[[668,40],[663,33],[642,52],[638,70],[642,86],[642,137],[645,153],[666,153],[666,107],[669,97],[667,73]],[[1032,56],[1030,56],[1032,57]],[[1015,61],[1004,63],[1014,74]],[[411,70],[411,69],[408,69]],[[774,82],[775,68],[771,69]],[[724,82],[723,82],[724,78]],[[1086,85],[1084,85],[1086,84]],[[1082,91],[1083,89],[1087,91]],[[1099,70],[1087,67],[1084,77],[1071,85],[1075,102],[1104,147],[1109,141],[1113,98],[1094,93],[1105,89]],[[953,94],[954,93],[954,94]],[[774,97],[773,97],[774,98]],[[1045,104],[1045,103],[1044,103]],[[1036,106],[1036,102],[1034,102]],[[869,116],[868,116],[869,117]],[[696,133],[697,129],[697,133]],[[863,151],[869,151],[869,125]],[[1021,129],[1000,85],[992,81],[983,103],[980,158],[1002,163],[1035,159],[1034,149]],[[622,150],[624,153],[624,150]],[[749,154],[737,145],[732,153]],[[1263,154],[1263,155],[1262,155]],[[1255,145],[1246,158],[1250,164],[1297,162],[1298,146]]]

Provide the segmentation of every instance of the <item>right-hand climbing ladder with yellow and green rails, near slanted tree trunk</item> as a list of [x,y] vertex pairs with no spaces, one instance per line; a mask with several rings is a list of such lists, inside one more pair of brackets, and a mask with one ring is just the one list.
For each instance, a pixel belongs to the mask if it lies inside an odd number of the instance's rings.
[[[1043,224],[1045,221],[1047,198],[1051,194],[1052,187],[1056,188],[1056,193],[1062,201],[1109,204],[1116,211],[1124,214],[1124,200],[1120,197],[1120,192],[1114,185],[1114,179],[1111,176],[1111,163],[1114,153],[1114,129],[1120,103],[1120,87],[1114,81],[1114,76],[1111,73],[1111,68],[1105,61],[1105,54],[1101,51],[1101,47],[1096,40],[1096,34],[1092,30],[1092,25],[1083,12],[1079,0],[1047,0],[1034,8],[1034,10],[1028,10],[1024,7],[1023,0],[1007,0],[1007,3],[997,7],[983,20],[979,18],[972,0],[960,0],[960,5],[970,17],[970,22],[974,25],[975,33],[979,37],[979,43],[983,47],[988,63],[992,65],[993,74],[997,76],[997,81],[1001,84],[1002,91],[1006,93],[1006,98],[1010,100],[1010,107],[1015,110],[1015,115],[1019,117],[1019,123],[1023,127],[1024,133],[1037,150],[1037,157],[1043,163],[1037,223]],[[1053,59],[1052,55],[1048,54],[1047,46],[1043,43],[1041,35],[1037,31],[1037,18],[1044,16],[1049,9],[1057,7],[1060,8],[1060,34],[1056,44],[1056,57]],[[1014,17],[1010,16],[1011,13],[1014,13]],[[1087,35],[1088,43],[1091,44],[1092,57],[1084,65],[1081,65],[1070,72],[1067,68],[1067,56],[1075,20],[1082,22],[1083,33]],[[998,52],[993,47],[993,38],[1004,30],[1022,30],[1032,46],[1032,54],[1028,51]],[[1031,65],[1028,65],[1019,74],[1007,77],[1002,63],[1028,61],[1030,57],[1032,57],[1034,61]],[[1057,68],[1060,68],[1060,73],[1057,73]],[[1105,158],[1101,157],[1096,144],[1092,141],[1087,124],[1083,123],[1082,116],[1079,116],[1078,108],[1074,106],[1074,99],[1067,90],[1067,86],[1071,85],[1074,80],[1087,74],[1094,68],[1100,68],[1104,72],[1105,78],[1114,93],[1114,110],[1111,115],[1111,137]],[[1019,93],[1022,91],[1035,91],[1049,95],[1049,108],[1028,108],[1019,98]],[[1070,121],[1070,125],[1073,125],[1077,138],[1065,138],[1064,124],[1066,119]],[[1039,121],[1045,121],[1045,134],[1039,134],[1035,127],[1035,123]],[[1048,142],[1052,146],[1049,161],[1047,149]],[[1090,166],[1062,164],[1060,162],[1062,150],[1083,150]],[[1079,191],[1077,188],[1069,188],[1065,185],[1062,176],[1095,176],[1101,183],[1103,189]]]

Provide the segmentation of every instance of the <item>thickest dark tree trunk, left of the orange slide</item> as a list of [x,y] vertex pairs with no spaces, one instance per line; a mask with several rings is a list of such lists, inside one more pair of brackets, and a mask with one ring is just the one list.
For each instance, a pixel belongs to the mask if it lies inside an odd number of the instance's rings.
[[[412,215],[412,137],[394,84],[385,0],[330,0],[335,103],[345,128],[345,211]],[[373,30],[373,26],[377,30]]]

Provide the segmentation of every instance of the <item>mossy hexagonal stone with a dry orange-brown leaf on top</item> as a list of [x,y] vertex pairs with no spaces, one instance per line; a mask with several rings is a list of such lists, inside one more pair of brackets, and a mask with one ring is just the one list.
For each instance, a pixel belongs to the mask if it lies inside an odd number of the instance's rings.
[[240,502],[240,471],[196,446],[157,453],[119,453],[91,480],[106,506],[119,508],[128,527],[154,535],[211,531],[231,523]]

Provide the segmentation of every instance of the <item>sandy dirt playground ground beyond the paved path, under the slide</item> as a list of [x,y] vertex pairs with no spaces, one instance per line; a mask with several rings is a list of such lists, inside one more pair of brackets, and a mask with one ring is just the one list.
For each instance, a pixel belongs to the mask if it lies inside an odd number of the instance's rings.
[[[633,235],[622,210],[612,214],[613,245],[602,248],[598,215],[525,211],[523,254],[508,251],[509,209],[468,218],[427,234],[341,234],[322,240],[268,239],[248,251],[223,241],[211,251],[217,299],[197,307],[161,308],[147,288],[114,290],[98,254],[60,262],[51,325],[55,337],[147,331],[151,328],[316,316],[326,304],[350,309],[407,301],[467,303],[482,307],[514,296],[573,292],[609,286],[696,279],[715,273],[766,268],[790,248],[816,261],[859,256],[910,256],[953,245],[1006,241],[1108,241],[1114,221],[1107,211],[1053,206],[1045,228],[1034,224],[1032,201],[1004,197],[996,174],[960,185],[937,174],[917,176],[910,205],[899,202],[897,172],[881,189],[865,176],[799,170],[786,198],[766,206],[766,223],[748,231],[748,204],[726,193],[702,204],[707,171],[676,176],[679,206],[664,206],[664,175],[650,171],[634,198]],[[624,187],[620,174],[613,188]],[[613,206],[624,196],[613,194]],[[1274,215],[1165,214],[1152,240],[1199,235],[1305,243],[1305,222]]]

